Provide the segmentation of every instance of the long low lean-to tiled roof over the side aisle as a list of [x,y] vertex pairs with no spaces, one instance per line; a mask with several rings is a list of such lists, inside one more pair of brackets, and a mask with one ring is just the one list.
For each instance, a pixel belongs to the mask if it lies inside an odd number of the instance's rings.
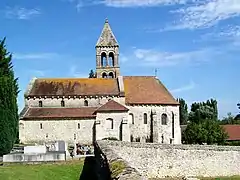
[[97,108],[29,108],[22,119],[77,119],[95,118]]

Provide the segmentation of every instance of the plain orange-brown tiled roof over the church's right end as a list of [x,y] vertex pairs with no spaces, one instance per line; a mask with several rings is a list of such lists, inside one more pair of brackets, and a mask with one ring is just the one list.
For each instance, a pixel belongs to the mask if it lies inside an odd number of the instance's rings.
[[126,104],[179,104],[154,76],[124,76]]

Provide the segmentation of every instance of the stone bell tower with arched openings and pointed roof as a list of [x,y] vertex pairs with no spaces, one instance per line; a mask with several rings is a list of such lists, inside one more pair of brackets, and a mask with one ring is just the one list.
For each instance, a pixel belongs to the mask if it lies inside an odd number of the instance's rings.
[[118,62],[119,45],[108,23],[105,24],[96,44],[97,78],[117,78],[120,75]]

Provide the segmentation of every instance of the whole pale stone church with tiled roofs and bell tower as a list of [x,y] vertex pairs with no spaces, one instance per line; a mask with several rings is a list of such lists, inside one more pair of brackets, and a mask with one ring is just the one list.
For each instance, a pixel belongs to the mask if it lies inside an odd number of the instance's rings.
[[180,144],[179,103],[155,76],[121,76],[119,44],[105,21],[96,78],[34,78],[20,114],[22,143],[64,140]]

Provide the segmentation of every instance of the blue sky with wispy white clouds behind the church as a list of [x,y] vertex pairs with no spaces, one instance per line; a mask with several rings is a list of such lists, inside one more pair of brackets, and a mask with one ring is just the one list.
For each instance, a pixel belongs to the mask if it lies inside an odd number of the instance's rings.
[[154,75],[188,104],[218,100],[238,113],[240,0],[1,0],[21,93],[33,77],[87,77],[108,18],[122,75]]

